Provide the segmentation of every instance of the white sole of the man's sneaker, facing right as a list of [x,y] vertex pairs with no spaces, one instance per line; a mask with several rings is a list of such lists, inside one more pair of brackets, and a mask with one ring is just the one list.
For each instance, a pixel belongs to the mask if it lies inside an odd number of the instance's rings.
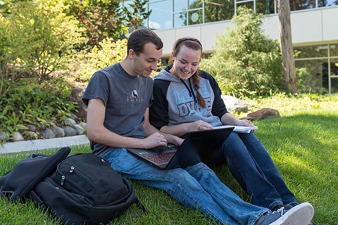
[[288,210],[270,225],[308,225],[315,210],[310,203],[301,203]]

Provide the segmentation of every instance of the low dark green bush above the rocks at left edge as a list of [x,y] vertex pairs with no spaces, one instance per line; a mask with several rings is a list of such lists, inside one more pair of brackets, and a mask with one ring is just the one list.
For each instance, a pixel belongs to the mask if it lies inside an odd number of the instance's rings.
[[[63,82],[42,82],[36,78],[20,79],[8,93],[0,98],[0,131],[13,134],[27,129],[27,124],[45,129],[65,122],[76,103],[68,101],[71,90]],[[9,136],[11,139],[11,136]]]

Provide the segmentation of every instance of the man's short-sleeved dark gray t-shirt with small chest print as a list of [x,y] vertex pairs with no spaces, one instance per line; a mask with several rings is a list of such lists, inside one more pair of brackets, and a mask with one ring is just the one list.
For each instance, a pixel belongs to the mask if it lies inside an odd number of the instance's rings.
[[[152,101],[153,79],[130,76],[120,63],[94,73],[82,101],[101,98],[106,106],[104,127],[122,136],[143,139],[144,113]],[[110,147],[92,143],[94,153],[102,155]]]

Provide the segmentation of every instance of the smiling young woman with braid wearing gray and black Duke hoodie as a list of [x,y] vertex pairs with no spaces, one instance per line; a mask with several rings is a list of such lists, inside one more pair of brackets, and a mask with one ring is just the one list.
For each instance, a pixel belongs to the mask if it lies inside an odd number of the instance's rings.
[[[202,46],[194,38],[175,41],[170,65],[154,77],[154,103],[150,122],[160,131],[182,136],[190,131],[221,125],[253,126],[231,115],[215,79],[199,70]],[[209,166],[226,162],[233,176],[248,193],[251,203],[270,210],[294,207],[296,202],[273,160],[255,134],[232,134]]]

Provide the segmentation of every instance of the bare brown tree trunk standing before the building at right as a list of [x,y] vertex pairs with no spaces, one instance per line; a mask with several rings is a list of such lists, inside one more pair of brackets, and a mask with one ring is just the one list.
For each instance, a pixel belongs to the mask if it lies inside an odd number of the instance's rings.
[[277,10],[280,27],[280,51],[282,52],[284,86],[291,94],[296,94],[296,70],[294,65],[294,48],[292,46],[289,0],[277,0]]

